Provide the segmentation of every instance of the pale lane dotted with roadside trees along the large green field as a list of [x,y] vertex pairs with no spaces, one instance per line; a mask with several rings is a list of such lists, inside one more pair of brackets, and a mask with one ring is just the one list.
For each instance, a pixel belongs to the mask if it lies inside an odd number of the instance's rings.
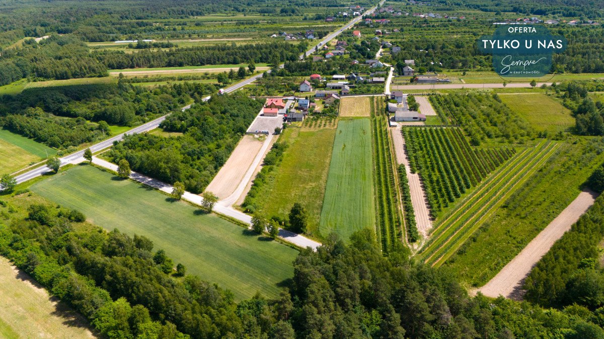
[[[80,162],[84,161],[83,158],[80,158],[79,160]],[[92,163],[112,171],[117,171],[118,168],[115,163],[108,162],[98,157],[92,157]],[[144,176],[143,174],[137,172],[132,172],[130,174],[130,179],[143,183],[144,185],[151,186],[152,188],[159,189],[160,191],[168,194],[172,194],[172,190],[174,189],[172,185]],[[203,198],[201,196],[193,194],[191,192],[185,192],[185,194],[182,195],[182,199],[192,204],[196,204],[197,206],[201,206],[203,202]],[[224,206],[224,204],[216,204],[216,206],[214,206],[214,212],[242,221],[243,223],[249,224],[251,226],[252,217],[241,211],[237,211],[236,209],[230,206]],[[299,235],[284,229],[279,229],[279,238],[283,239],[284,241],[291,242],[295,246],[302,248],[310,247],[313,250],[316,250],[317,247],[321,246],[320,242],[316,242],[314,240],[306,238],[303,235]]]

